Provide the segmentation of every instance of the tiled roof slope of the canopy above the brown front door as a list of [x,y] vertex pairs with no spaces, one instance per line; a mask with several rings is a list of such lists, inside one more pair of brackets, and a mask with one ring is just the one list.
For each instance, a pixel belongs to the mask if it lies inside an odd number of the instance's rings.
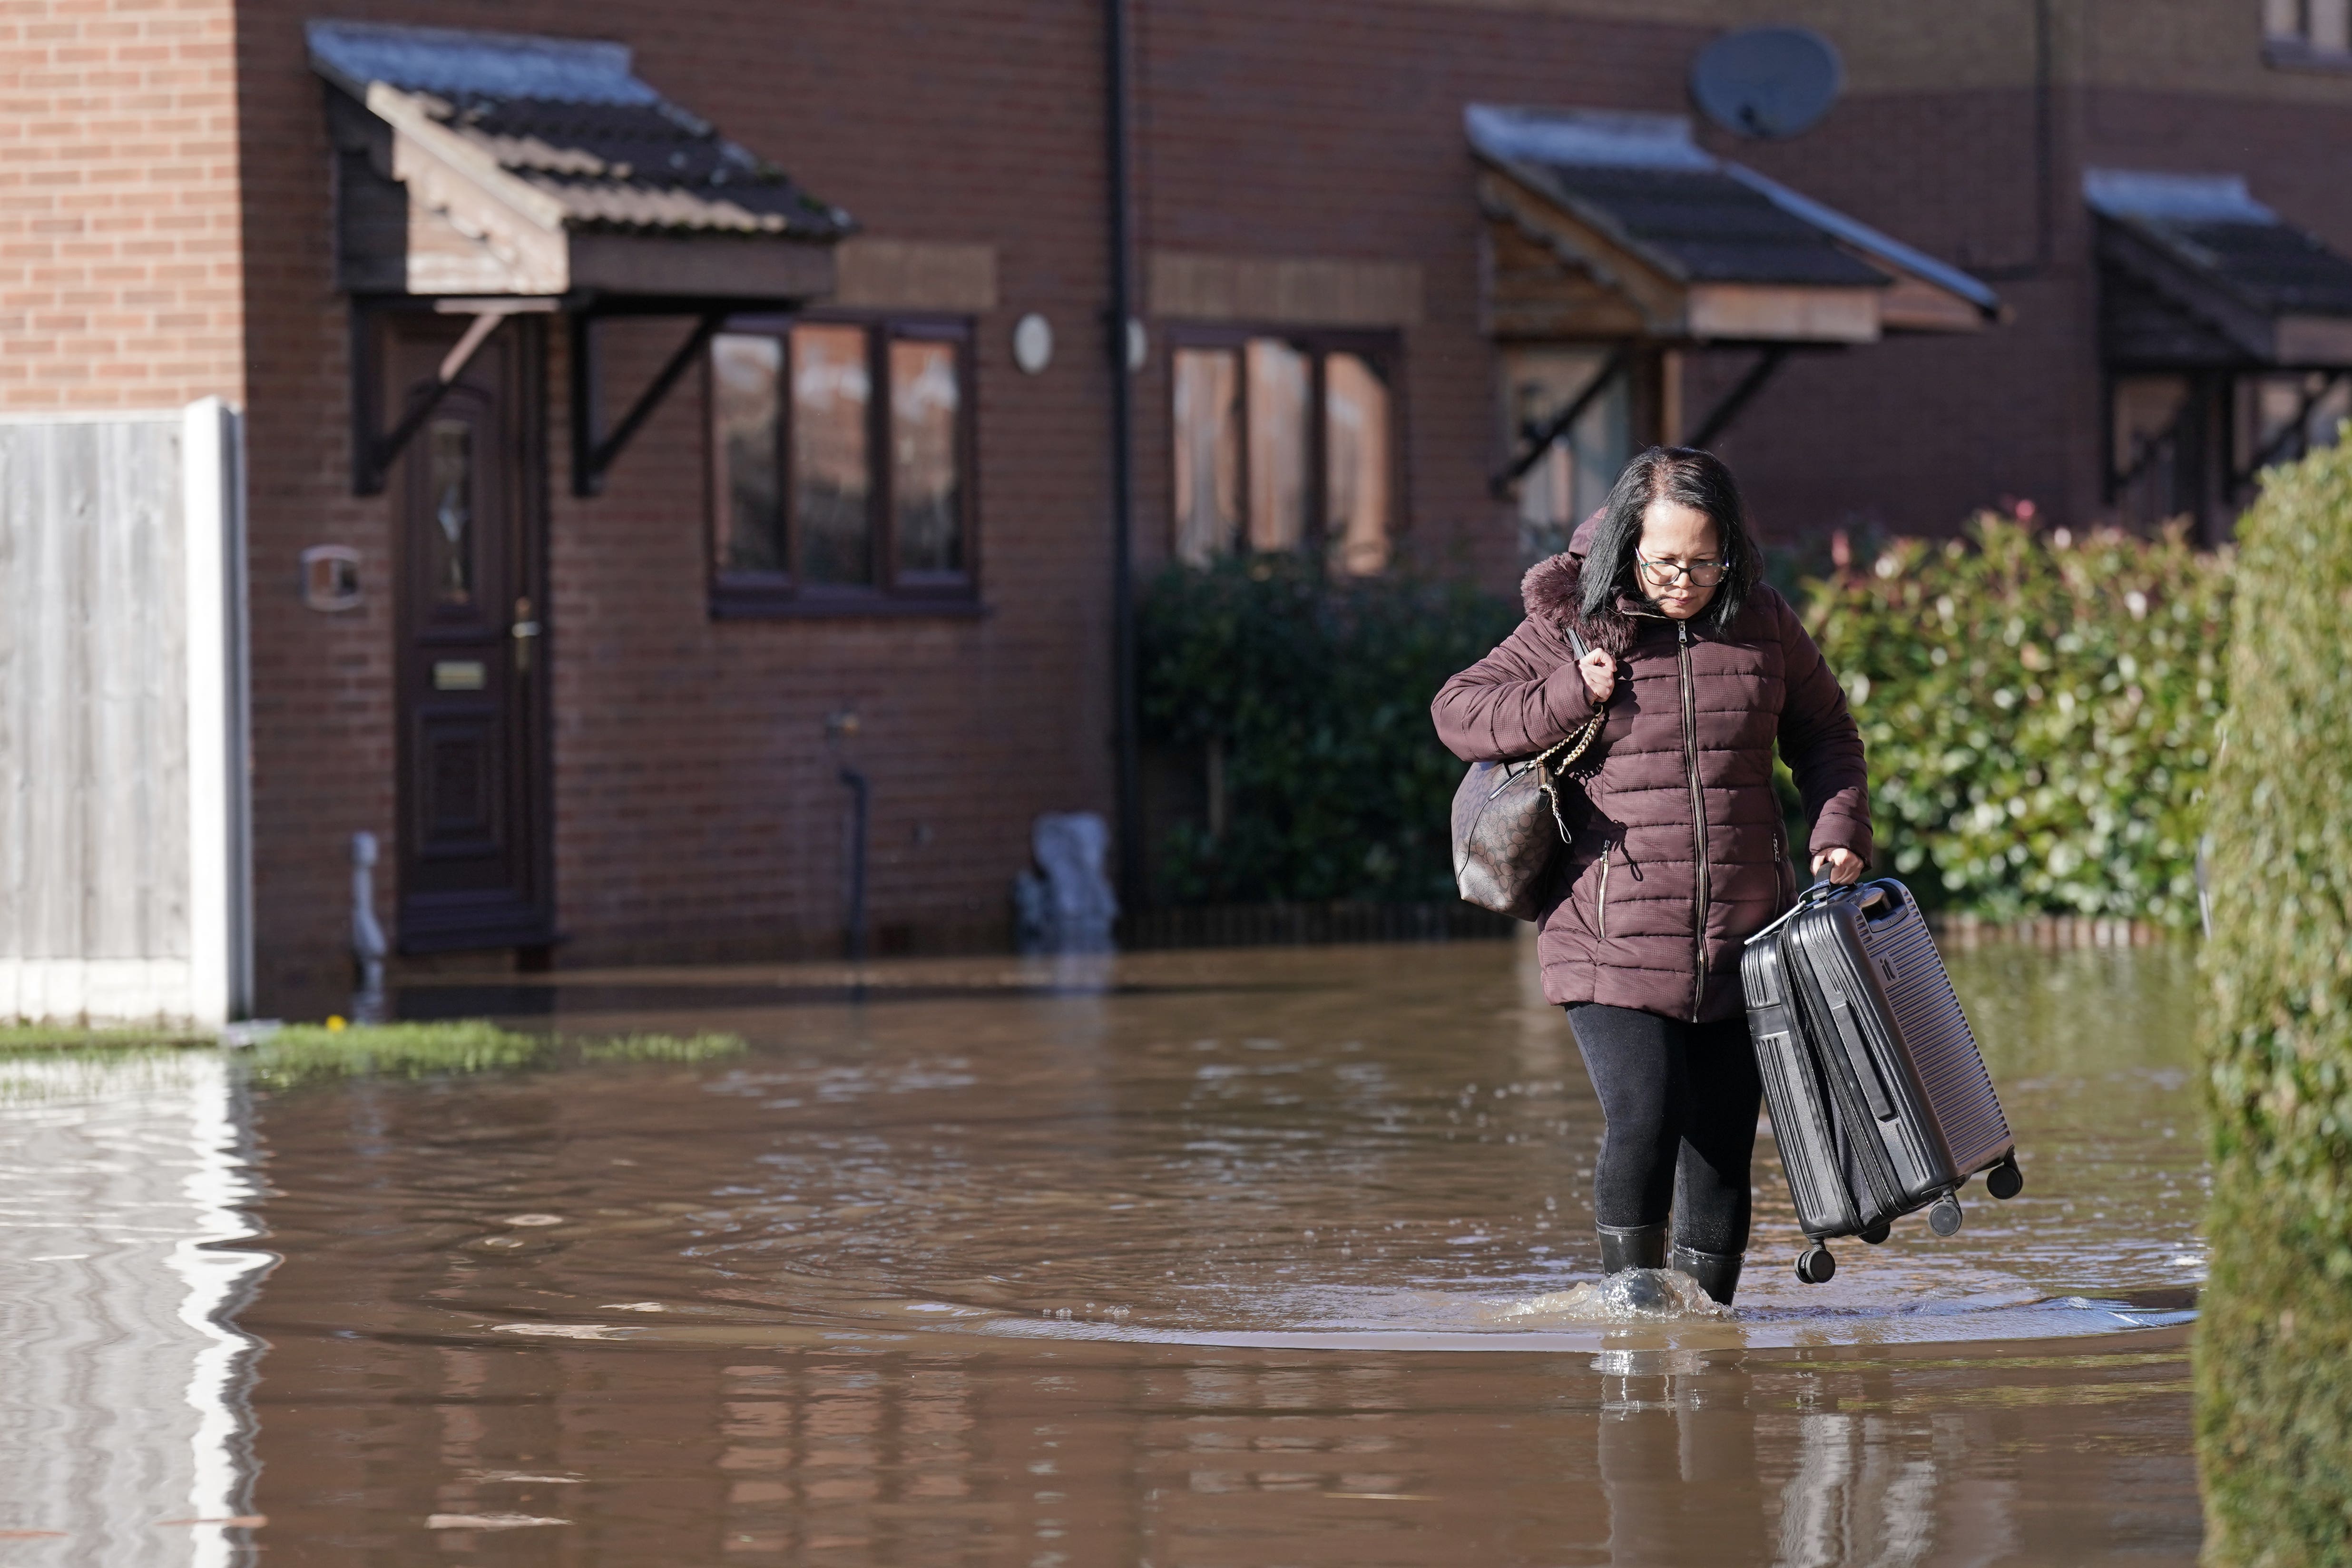
[[395,127],[470,153],[572,230],[830,240],[849,214],[630,71],[626,45],[313,21],[310,63]]

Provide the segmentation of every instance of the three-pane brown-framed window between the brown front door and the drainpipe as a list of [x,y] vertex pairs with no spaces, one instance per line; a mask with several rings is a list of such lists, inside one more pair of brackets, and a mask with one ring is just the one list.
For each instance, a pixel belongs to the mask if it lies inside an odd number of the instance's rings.
[[713,609],[969,602],[969,331],[734,322],[710,339]]

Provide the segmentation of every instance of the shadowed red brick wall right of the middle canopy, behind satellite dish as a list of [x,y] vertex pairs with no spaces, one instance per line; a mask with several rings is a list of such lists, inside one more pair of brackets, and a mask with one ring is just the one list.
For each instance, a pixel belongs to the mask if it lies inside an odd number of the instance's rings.
[[[2032,115],[2027,92],[1860,96],[1790,143],[1710,136],[1806,195],[1985,268],[2011,310],[1978,336],[1891,339],[1783,369],[1722,442],[1771,531],[1945,534],[2004,498],[2034,501],[2049,522],[2098,520],[2105,386],[2084,167],[2244,174],[2281,216],[2352,249],[2352,190],[2321,155],[2352,139],[2352,108],[2063,89],[2039,266]],[[1712,357],[1691,378],[1693,418],[1748,364]]]

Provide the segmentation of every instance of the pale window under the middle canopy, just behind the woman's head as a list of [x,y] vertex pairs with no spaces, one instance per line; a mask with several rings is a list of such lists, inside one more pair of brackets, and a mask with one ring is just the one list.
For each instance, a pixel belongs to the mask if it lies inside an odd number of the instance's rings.
[[[1503,449],[1517,458],[1606,374],[1602,348],[1522,348],[1503,360]],[[1632,383],[1618,371],[1585,400],[1576,423],[1519,477],[1519,559],[1536,564],[1569,548],[1632,458]]]

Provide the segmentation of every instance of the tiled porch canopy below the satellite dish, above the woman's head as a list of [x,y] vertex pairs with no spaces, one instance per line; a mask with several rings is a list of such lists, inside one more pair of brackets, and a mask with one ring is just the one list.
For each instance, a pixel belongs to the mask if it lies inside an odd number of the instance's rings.
[[[1531,538],[1559,534],[1590,501],[1585,480],[1562,475],[1623,461],[1602,451],[1604,428],[1630,440],[1623,451],[1708,447],[1795,350],[2002,320],[1983,282],[1715,158],[1682,115],[1472,103],[1463,122],[1484,216],[1484,324],[1515,409],[1512,456],[1491,484],[1519,496]],[[1684,418],[1677,350],[1708,348],[1755,360]],[[1559,473],[1531,480],[1538,468]],[[1541,498],[1545,487],[1559,494]]]

